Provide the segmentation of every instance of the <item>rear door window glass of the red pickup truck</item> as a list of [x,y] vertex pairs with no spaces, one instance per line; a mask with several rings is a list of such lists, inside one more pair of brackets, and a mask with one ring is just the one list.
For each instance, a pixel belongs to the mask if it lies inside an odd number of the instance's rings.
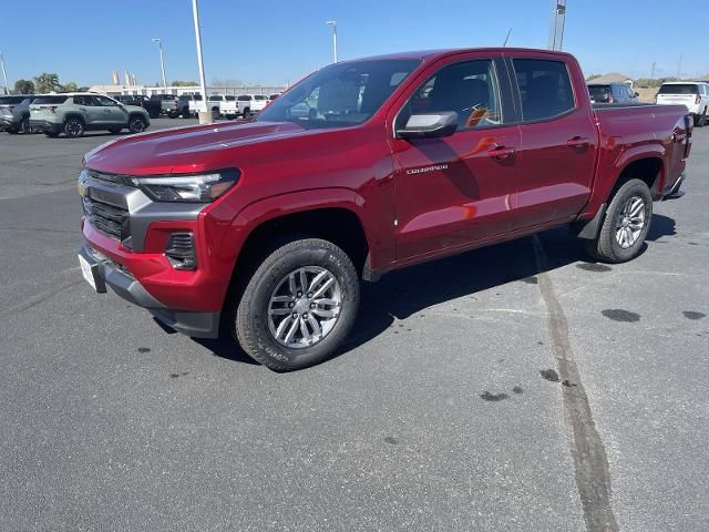
[[524,121],[546,120],[574,109],[574,91],[563,61],[515,59]]

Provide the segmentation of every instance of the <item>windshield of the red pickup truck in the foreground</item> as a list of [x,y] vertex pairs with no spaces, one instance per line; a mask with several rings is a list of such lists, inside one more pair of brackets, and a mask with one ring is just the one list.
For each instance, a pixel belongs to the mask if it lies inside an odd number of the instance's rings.
[[331,64],[274,100],[256,120],[295,122],[308,129],[361,124],[419,64],[411,59]]

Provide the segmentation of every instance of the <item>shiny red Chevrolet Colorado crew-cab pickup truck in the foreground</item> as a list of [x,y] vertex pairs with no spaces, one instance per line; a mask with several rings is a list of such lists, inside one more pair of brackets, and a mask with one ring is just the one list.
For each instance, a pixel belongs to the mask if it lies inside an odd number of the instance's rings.
[[80,263],[99,293],[297,369],[348,335],[360,278],[562,224],[599,260],[634,258],[690,146],[684,106],[594,108],[566,53],[347,61],[250,123],[88,153]]

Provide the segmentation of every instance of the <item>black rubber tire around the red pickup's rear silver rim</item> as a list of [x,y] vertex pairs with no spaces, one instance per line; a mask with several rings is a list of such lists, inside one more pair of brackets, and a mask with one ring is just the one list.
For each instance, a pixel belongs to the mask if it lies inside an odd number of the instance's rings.
[[[618,232],[624,231],[621,227],[623,224],[626,223],[624,218],[627,216],[626,213],[624,213],[624,208],[631,200],[635,201],[634,198],[643,201],[641,212],[644,215],[644,223],[636,237],[637,239],[631,244],[630,242],[626,242],[627,247],[625,247],[619,242],[621,237],[618,236]],[[653,196],[650,195],[650,190],[644,181],[630,180],[620,186],[615,196],[613,196],[613,201],[610,202],[610,205],[608,205],[606,215],[604,216],[598,236],[595,241],[587,241],[586,250],[595,259],[605,263],[625,263],[627,260],[631,260],[637,257],[643,249],[651,222]],[[630,231],[630,227],[626,226],[625,231]]]

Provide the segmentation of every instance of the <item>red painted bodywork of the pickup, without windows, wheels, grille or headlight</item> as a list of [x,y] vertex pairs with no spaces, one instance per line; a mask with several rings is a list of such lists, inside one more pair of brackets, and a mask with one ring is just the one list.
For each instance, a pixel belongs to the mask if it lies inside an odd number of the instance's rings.
[[[401,105],[440,66],[507,57],[566,62],[576,109],[555,120],[460,131],[444,139],[394,137],[392,122]],[[479,49],[388,58],[419,59],[421,64],[359,126],[219,123],[127,136],[86,154],[89,168],[113,174],[242,173],[236,186],[196,221],[151,225],[142,253],[124,248],[89,223],[83,224],[86,241],[129,268],[165,306],[213,311],[223,306],[249,234],[286,214],[350,211],[367,237],[371,268],[383,272],[590,218],[625,165],[636,158],[660,158],[660,191],[685,168],[684,145],[677,142],[687,134],[684,108],[595,111],[580,68],[568,54]],[[568,146],[573,139],[588,143]],[[497,146],[514,149],[514,156],[490,157],[487,152]],[[196,235],[194,272],[175,270],[163,254],[168,233],[179,229]]]

